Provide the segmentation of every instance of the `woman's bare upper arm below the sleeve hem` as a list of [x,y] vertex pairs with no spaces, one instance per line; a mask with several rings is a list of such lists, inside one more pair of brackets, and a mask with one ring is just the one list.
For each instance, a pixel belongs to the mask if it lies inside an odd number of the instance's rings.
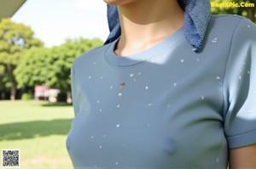
[[256,168],[256,144],[230,149],[230,169]]

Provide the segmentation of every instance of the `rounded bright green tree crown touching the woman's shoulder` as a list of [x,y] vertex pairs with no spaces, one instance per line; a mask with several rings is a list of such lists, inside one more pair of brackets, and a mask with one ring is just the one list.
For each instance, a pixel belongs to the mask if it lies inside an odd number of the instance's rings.
[[46,86],[70,91],[70,69],[80,54],[102,45],[99,39],[67,40],[59,47],[32,48],[15,70],[18,87]]

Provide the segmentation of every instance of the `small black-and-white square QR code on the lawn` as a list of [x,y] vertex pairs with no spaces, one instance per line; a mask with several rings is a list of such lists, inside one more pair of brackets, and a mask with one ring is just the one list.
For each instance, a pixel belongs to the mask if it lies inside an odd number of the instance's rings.
[[2,167],[20,167],[20,150],[2,149]]

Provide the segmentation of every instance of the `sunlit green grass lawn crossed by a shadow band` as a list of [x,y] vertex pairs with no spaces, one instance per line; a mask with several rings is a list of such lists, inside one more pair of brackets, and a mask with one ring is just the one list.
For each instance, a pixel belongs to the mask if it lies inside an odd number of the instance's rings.
[[72,168],[66,138],[73,107],[36,101],[0,101],[0,149],[20,149],[21,169]]

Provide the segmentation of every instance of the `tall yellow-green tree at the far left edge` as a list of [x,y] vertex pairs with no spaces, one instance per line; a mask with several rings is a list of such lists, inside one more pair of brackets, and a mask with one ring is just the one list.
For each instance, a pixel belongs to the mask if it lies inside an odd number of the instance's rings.
[[26,49],[43,46],[43,42],[33,37],[30,27],[17,24],[9,19],[0,20],[0,89],[10,89],[15,99],[17,82],[14,70],[22,60]]

